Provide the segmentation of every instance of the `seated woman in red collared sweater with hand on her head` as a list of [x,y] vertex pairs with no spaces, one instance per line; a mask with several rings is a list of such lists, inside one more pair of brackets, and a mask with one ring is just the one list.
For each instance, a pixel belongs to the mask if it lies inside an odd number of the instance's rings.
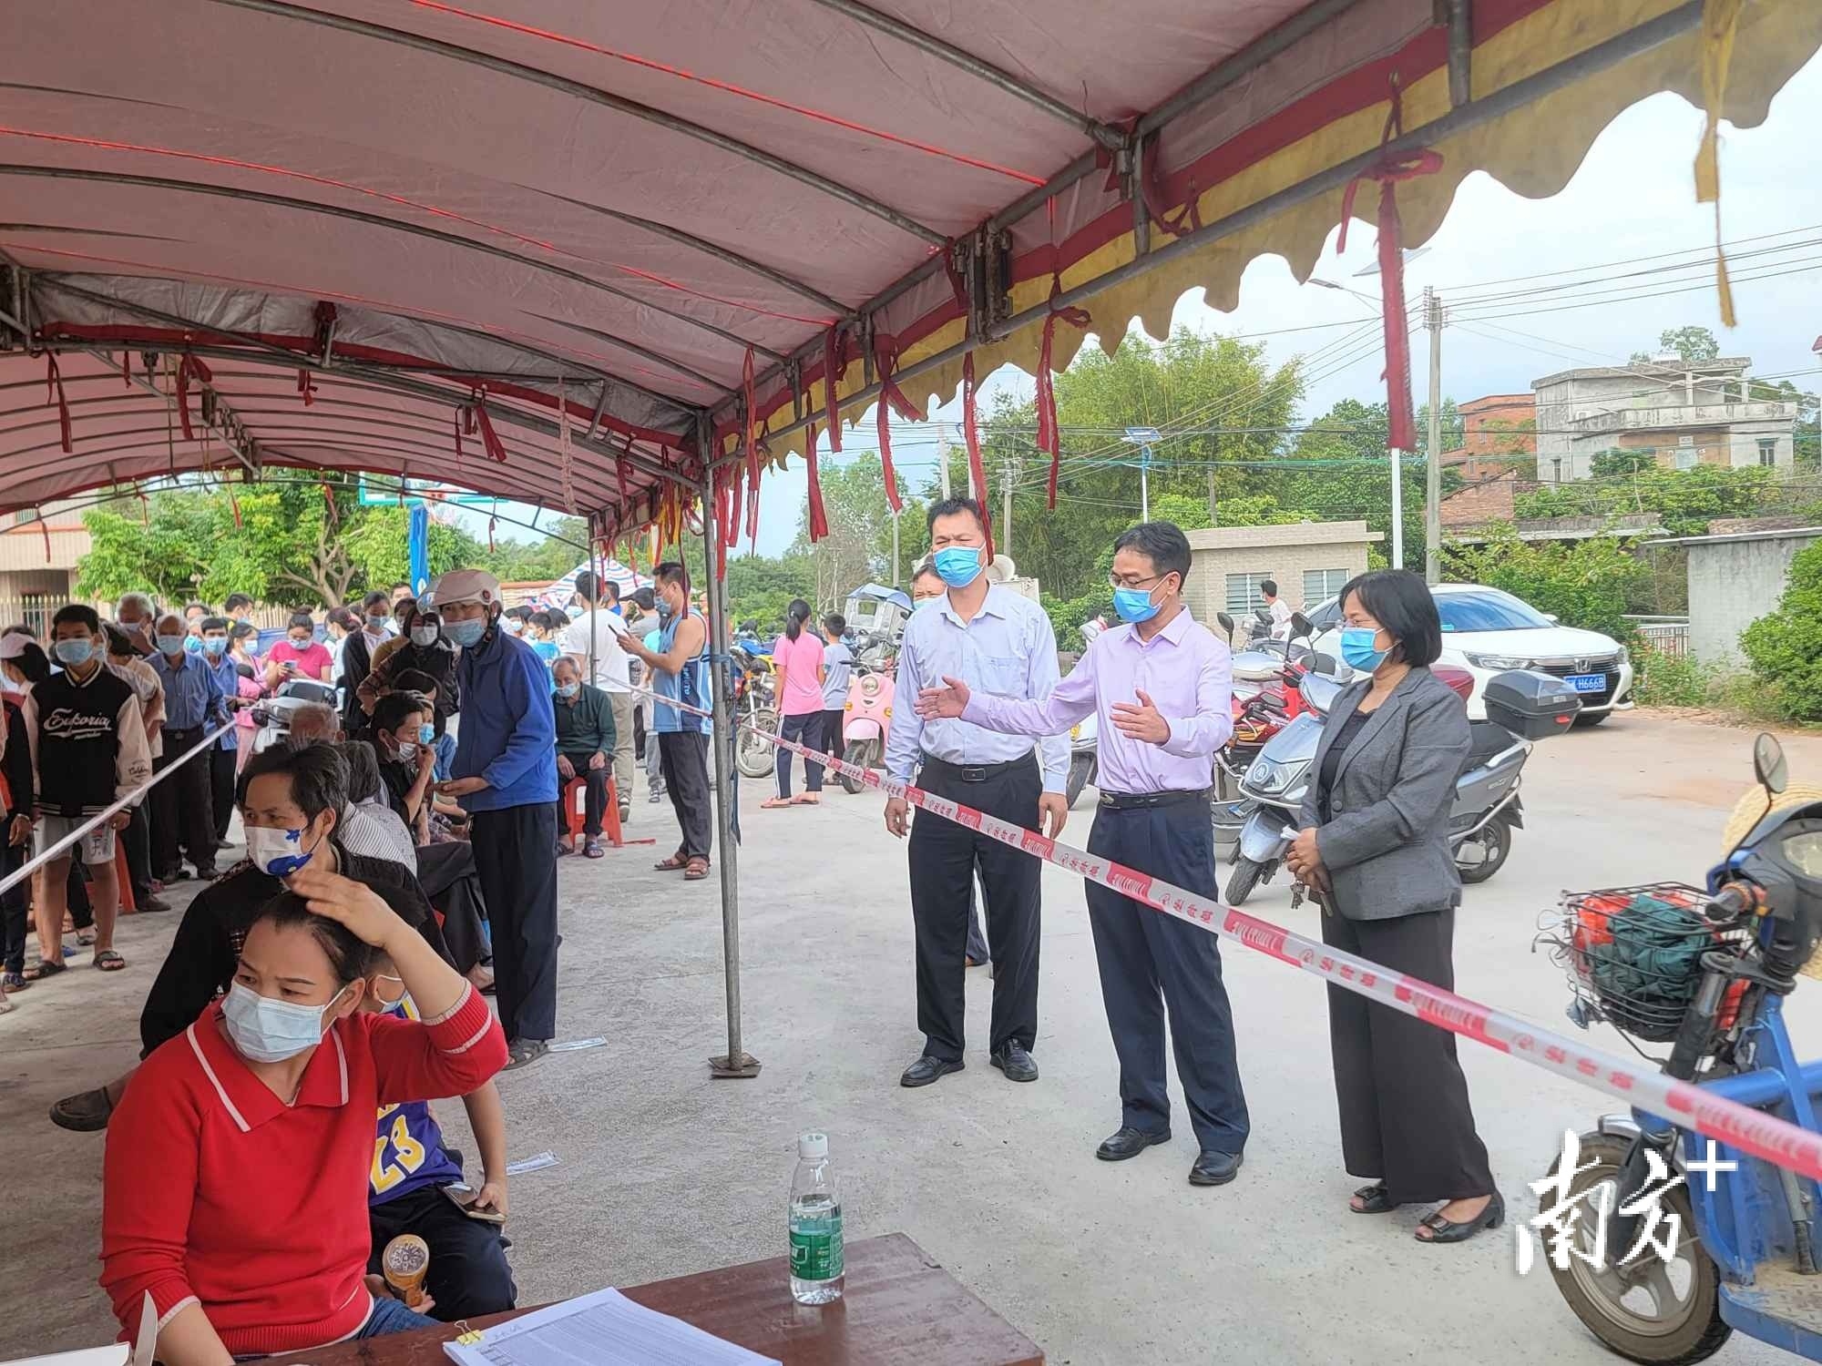
[[[290,889],[107,1127],[102,1288],[129,1335],[151,1295],[164,1366],[428,1326],[364,1280],[374,1115],[507,1062],[486,1002],[368,887],[306,867]],[[357,1009],[374,949],[421,1020]]]

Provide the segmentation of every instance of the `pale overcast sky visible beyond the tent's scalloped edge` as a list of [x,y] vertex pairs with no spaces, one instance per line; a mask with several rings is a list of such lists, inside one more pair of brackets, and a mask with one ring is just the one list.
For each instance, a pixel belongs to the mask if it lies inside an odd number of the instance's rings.
[[[1676,271],[1673,277],[1642,275],[1674,266],[1689,257],[1638,260],[1662,253],[1698,253],[1713,246],[1711,206],[1694,202],[1691,162],[1702,131],[1702,115],[1676,95],[1656,95],[1627,109],[1591,148],[1563,193],[1547,200],[1527,200],[1487,175],[1469,177],[1428,251],[1407,268],[1407,295],[1412,304],[1423,286],[1434,286],[1452,308],[1454,322],[1443,333],[1443,393],[1458,401],[1481,393],[1527,392],[1530,381],[1556,370],[1581,364],[1623,364],[1633,352],[1654,350],[1665,328],[1700,324],[1722,339],[1725,355],[1747,355],[1756,375],[1789,375],[1800,388],[1822,388],[1817,357],[1809,346],[1822,333],[1817,273],[1822,251],[1795,246],[1822,237],[1822,177],[1817,173],[1815,138],[1822,127],[1822,56],[1811,60],[1778,95],[1769,118],[1753,129],[1724,126],[1722,208],[1724,235],[1729,242],[1747,237],[1767,240],[1731,248],[1735,257],[1735,306],[1738,326],[1725,331],[1715,302],[1713,273]],[[1359,204],[1372,202],[1365,195]],[[1793,233],[1793,229],[1813,229]],[[1793,233],[1784,239],[1775,233]],[[1766,255],[1744,257],[1745,251]],[[1357,279],[1356,271],[1374,262],[1372,228],[1350,233],[1348,251],[1337,257],[1334,235],[1317,262],[1315,275],[1348,288],[1377,295],[1377,279]],[[1611,264],[1609,262],[1633,262]],[[1607,270],[1592,270],[1609,266]],[[1561,284],[1563,277],[1492,286],[1543,271],[1591,268],[1587,277],[1620,275],[1627,279],[1589,282],[1585,288],[1549,299],[1481,302],[1469,306],[1474,293],[1490,290],[1532,290]],[[1767,279],[1751,280],[1753,273]],[[1561,310],[1565,302],[1585,301],[1598,290],[1649,291],[1676,290],[1660,297],[1612,299],[1598,306]],[[1093,306],[1093,304],[1090,304]],[[1520,310],[1554,310],[1527,311]],[[1336,401],[1385,397],[1379,379],[1381,352],[1359,355],[1361,346],[1323,352],[1343,342],[1354,319],[1377,317],[1377,304],[1314,284],[1299,286],[1281,257],[1259,257],[1241,280],[1239,308],[1217,313],[1203,304],[1201,290],[1177,302],[1175,324],[1203,333],[1264,333],[1314,324],[1343,324],[1281,337],[1261,337],[1272,364],[1292,355],[1310,355],[1314,382],[1301,417],[1315,417]],[[1472,321],[1470,321],[1472,319]],[[1529,335],[1512,335],[1514,331]],[[1346,362],[1348,355],[1359,355]],[[1421,403],[1427,377],[1427,348],[1414,339],[1412,384]],[[1337,364],[1341,362],[1341,364]],[[1029,397],[1031,379],[1017,370],[997,372],[984,386],[986,399],[998,390]],[[958,404],[933,417],[955,421]],[[873,444],[873,417],[867,415],[851,439],[853,450]],[[922,484],[933,468],[927,446],[907,448],[898,459],[904,477]],[[1137,472],[1133,474],[1137,479]],[[805,497],[804,463],[767,475],[760,505],[760,554],[778,554],[796,534],[798,508]],[[485,528],[483,528],[485,530]],[[528,539],[528,534],[503,528]]]

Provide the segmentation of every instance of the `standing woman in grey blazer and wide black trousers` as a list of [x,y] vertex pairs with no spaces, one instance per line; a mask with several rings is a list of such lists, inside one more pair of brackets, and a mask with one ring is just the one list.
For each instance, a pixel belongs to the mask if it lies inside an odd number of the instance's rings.
[[[1454,989],[1461,878],[1448,809],[1469,721],[1428,670],[1443,648],[1436,599],[1416,574],[1376,570],[1341,590],[1341,654],[1368,678],[1328,712],[1286,863],[1323,905],[1325,943]],[[1372,1178],[1348,1208],[1379,1215],[1441,1200],[1419,1242],[1498,1228],[1505,1202],[1474,1131],[1456,1036],[1339,987],[1328,989],[1328,1036],[1341,1157]]]

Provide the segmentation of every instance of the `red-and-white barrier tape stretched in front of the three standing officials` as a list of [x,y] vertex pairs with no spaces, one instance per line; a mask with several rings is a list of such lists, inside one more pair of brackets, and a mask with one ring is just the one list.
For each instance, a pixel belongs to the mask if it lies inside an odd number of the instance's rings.
[[[660,698],[649,688],[634,688],[634,692],[667,707],[712,719],[712,712],[701,707]],[[920,810],[1022,849],[1033,858],[1055,863],[1090,882],[1099,882],[1121,896],[1142,902],[1153,911],[1162,911],[1246,949],[1277,958],[1281,963],[1301,967],[1305,973],[1312,973],[1330,985],[1366,996],[1394,1011],[1412,1014],[1452,1035],[1472,1038],[1476,1044],[1485,1044],[1498,1053],[1507,1053],[1558,1076],[1592,1086],[1618,1096],[1627,1106],[1638,1106],[1653,1115],[1669,1118],[1680,1127],[1694,1129],[1742,1153],[1751,1153],[1775,1166],[1822,1180],[1822,1135],[1809,1133],[1775,1115],[1725,1100],[1691,1082],[1678,1082],[1660,1071],[1642,1067],[1631,1058],[1589,1047],[1569,1035],[1558,1035],[1552,1029],[1545,1029],[1516,1014],[1507,1014],[1492,1005],[1472,1002],[1454,991],[1445,991],[1405,973],[1394,973],[1366,958],[1343,953],[1319,940],[1310,940],[1281,925],[1274,925],[1270,920],[1259,920],[1237,907],[1184,891],[1162,878],[1153,878],[1150,872],[1139,872],[1124,863],[1059,843],[1039,831],[1028,831],[1022,825],[989,816],[984,810],[975,810],[958,801],[940,798],[935,792],[926,792],[920,787],[885,778],[878,769],[862,769],[833,754],[813,750],[794,739],[774,736],[747,721],[736,721],[736,725],[778,749],[787,749],[825,769],[856,778],[867,787],[885,792],[885,796],[904,798]]]

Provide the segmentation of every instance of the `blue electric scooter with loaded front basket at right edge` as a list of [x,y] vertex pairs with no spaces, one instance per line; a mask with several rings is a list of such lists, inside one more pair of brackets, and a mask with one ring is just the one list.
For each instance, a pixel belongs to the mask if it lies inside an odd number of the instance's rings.
[[[1667,1076],[1817,1131],[1822,1062],[1798,1062],[1784,998],[1798,973],[1817,973],[1807,965],[1822,942],[1822,803],[1780,801],[1786,759],[1771,736],[1753,745],[1753,769],[1764,814],[1709,869],[1705,889],[1565,894],[1556,931],[1541,938],[1569,967],[1576,1024],[1607,1020],[1671,1044]],[[1612,1351],[1694,1362],[1740,1330],[1822,1361],[1815,1180],[1642,1109],[1583,1133],[1569,1173],[1561,1160],[1554,1184],[1538,1189],[1583,1217],[1565,1233],[1563,1266],[1549,1257],[1551,1277]],[[1660,1191],[1656,1231],[1680,1233],[1669,1257],[1640,1237],[1636,1197],[1647,1188]]]

